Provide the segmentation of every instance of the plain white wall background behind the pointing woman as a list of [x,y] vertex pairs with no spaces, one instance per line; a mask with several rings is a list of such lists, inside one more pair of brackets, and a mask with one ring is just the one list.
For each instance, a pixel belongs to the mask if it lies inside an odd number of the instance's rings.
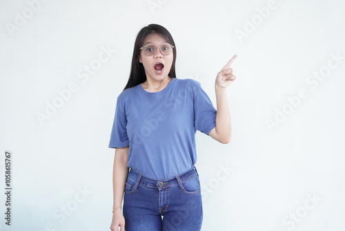
[[[266,18],[267,0],[50,0],[35,11],[32,1],[0,1],[0,192],[6,150],[13,189],[10,227],[0,194],[0,230],[109,230],[116,98],[135,37],[151,23],[175,39],[177,78],[201,82],[215,107],[217,72],[238,55],[227,89],[232,140],[196,134],[202,230],[345,230],[344,1],[277,0]],[[116,51],[80,78],[102,47]],[[320,71],[322,81],[309,79]],[[37,113],[72,82],[78,90],[41,124]],[[299,89],[308,97],[293,107],[287,98]]]

